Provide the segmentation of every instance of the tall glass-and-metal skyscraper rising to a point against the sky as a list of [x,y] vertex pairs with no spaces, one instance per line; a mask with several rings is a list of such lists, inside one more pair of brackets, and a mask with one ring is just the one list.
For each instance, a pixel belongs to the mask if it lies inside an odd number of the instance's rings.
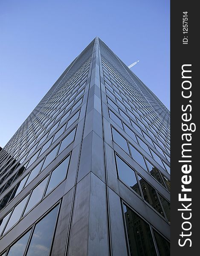
[[95,38],[0,151],[0,256],[169,255],[169,122]]

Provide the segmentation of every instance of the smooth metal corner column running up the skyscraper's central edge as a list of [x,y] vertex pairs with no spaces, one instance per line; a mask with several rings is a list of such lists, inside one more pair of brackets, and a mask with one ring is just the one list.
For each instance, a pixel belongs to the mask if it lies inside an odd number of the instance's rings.
[[98,44],[99,39],[96,38],[78,168],[69,256],[109,255]]

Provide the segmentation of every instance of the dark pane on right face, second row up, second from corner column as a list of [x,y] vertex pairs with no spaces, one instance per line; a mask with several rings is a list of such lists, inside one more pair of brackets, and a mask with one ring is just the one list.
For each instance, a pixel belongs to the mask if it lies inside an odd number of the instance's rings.
[[164,217],[164,213],[159,203],[156,190],[139,175],[138,175],[138,178],[139,178],[139,183],[142,188],[142,194],[144,196],[145,201],[148,204],[150,204],[154,209],[156,209],[157,212],[159,212]]

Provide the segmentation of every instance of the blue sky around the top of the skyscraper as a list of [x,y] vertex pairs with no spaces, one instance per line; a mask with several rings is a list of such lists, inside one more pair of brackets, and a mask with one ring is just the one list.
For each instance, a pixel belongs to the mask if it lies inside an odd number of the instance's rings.
[[1,0],[0,146],[96,36],[169,108],[169,0]]

